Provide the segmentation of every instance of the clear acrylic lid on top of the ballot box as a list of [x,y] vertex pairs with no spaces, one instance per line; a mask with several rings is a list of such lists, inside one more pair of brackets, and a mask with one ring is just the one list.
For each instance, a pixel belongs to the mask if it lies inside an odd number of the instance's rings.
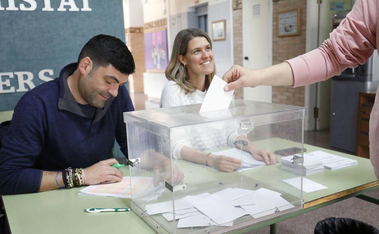
[[[230,103],[229,109],[225,110],[199,113],[200,107],[201,104],[194,104],[125,112],[124,121],[136,125],[142,124],[147,127],[146,130],[149,132],[168,136],[169,128],[210,122],[240,122],[241,119],[246,119],[248,121],[254,121],[255,125],[259,125],[281,121],[281,115],[285,115],[284,118],[286,121],[305,118],[305,107],[243,99],[233,100]],[[262,118],[258,118],[259,116]],[[270,118],[267,118],[269,116]],[[251,117],[255,118],[251,119]]]

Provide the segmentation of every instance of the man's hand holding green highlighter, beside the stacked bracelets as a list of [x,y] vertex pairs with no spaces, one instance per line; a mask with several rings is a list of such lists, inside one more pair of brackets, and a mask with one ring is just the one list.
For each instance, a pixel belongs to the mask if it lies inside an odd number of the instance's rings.
[[86,185],[99,184],[104,181],[121,182],[124,173],[111,166],[118,163],[116,159],[107,159],[85,168]]

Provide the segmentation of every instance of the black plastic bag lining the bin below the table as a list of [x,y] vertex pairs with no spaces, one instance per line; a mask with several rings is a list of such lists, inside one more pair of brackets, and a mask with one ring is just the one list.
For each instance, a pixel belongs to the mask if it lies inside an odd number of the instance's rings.
[[326,218],[317,223],[315,234],[379,234],[379,230],[351,218]]

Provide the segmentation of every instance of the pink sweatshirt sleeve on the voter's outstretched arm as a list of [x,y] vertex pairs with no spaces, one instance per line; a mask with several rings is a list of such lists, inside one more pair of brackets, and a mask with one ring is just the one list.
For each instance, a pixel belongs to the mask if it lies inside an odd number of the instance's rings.
[[376,49],[377,0],[359,0],[323,45],[287,60],[294,87],[309,85],[364,64]]

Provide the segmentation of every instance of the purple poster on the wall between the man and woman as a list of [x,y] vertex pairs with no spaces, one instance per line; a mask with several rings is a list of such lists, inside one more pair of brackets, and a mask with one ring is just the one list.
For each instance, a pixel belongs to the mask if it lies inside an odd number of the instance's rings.
[[144,34],[145,69],[164,71],[168,64],[167,30]]

